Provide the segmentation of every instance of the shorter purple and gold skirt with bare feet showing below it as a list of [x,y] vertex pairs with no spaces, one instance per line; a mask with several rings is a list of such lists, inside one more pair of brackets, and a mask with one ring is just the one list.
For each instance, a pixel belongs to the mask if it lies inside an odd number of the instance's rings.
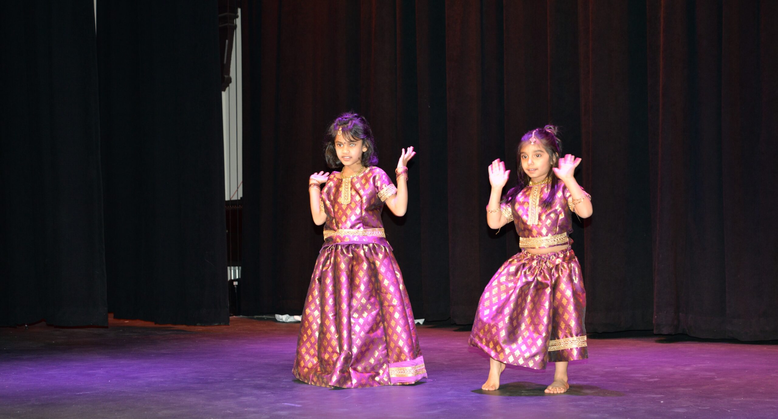
[[585,313],[584,280],[572,249],[522,251],[486,285],[469,343],[497,361],[535,369],[588,358]]

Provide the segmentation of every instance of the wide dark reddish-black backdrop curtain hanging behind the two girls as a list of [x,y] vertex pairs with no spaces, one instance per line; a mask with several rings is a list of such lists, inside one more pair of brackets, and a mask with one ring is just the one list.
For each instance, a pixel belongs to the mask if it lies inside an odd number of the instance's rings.
[[513,166],[520,135],[551,122],[594,197],[573,233],[589,331],[778,338],[774,2],[268,1],[241,12],[246,313],[300,313],[321,246],[307,176],[326,169],[328,122],[353,109],[373,124],[387,172],[401,147],[418,148],[408,215],[384,215],[417,317],[471,323],[517,251],[510,229],[485,226],[485,167]]

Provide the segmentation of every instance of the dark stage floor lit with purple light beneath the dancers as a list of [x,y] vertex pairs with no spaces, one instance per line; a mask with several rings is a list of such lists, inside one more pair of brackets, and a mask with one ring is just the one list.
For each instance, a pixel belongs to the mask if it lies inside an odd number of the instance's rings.
[[648,333],[589,335],[566,394],[544,372],[506,368],[482,392],[488,358],[468,327],[419,327],[429,379],[328,389],[292,375],[300,323],[0,328],[0,417],[776,417],[778,343]]

